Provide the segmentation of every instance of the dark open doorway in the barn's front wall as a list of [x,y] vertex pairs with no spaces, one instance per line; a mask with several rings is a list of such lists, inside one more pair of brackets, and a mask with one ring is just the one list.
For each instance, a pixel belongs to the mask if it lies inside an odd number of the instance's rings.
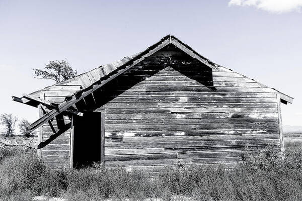
[[101,113],[73,116],[73,167],[82,168],[101,163]]

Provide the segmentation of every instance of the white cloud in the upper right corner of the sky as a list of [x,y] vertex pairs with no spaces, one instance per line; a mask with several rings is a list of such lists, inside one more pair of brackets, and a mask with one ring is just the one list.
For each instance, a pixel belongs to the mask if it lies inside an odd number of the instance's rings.
[[231,0],[229,6],[252,6],[271,13],[300,11],[302,0]]

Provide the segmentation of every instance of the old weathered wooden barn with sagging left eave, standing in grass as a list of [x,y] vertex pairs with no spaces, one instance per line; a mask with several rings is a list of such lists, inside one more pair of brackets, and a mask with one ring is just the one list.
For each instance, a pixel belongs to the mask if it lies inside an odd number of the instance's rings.
[[100,162],[150,172],[178,161],[232,165],[269,144],[284,152],[280,103],[293,100],[171,35],[13,99],[39,108],[30,128],[39,129],[38,154],[50,167]]

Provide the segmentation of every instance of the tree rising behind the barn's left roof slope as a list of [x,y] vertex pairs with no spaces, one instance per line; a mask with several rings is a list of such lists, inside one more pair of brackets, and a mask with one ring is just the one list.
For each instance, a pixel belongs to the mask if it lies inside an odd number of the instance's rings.
[[58,83],[77,75],[77,71],[73,70],[65,60],[49,61],[45,66],[45,70],[33,69],[35,71],[35,78],[51,79]]

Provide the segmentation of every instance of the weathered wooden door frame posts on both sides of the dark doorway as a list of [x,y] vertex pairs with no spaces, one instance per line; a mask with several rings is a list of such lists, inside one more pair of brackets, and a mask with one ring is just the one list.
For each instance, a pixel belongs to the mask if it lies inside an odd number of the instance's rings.
[[[105,111],[100,111],[101,113],[101,158],[100,162],[105,167]],[[71,116],[71,136],[70,136],[70,159],[69,167],[73,168],[73,139],[74,139],[74,115]]]

